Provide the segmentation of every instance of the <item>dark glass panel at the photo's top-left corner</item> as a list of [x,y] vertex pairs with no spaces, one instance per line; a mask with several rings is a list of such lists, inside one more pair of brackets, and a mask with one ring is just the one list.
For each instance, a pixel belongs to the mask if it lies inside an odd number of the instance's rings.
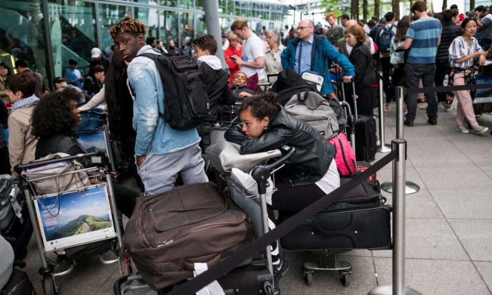
[[0,15],[0,61],[13,69],[15,60],[25,59],[33,71],[46,78],[47,60],[42,23],[44,15],[41,4],[2,0]]

